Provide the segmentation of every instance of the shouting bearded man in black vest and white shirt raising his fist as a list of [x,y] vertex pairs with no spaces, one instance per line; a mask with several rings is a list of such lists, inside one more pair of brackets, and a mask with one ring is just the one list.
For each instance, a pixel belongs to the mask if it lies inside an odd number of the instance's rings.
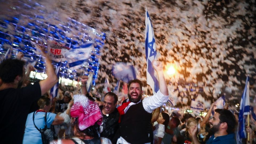
[[152,112],[165,104],[169,98],[168,89],[160,61],[153,61],[153,67],[158,75],[159,90],[151,97],[142,98],[142,82],[134,79],[128,83],[128,98],[118,107],[120,114],[119,135],[117,143],[152,143],[151,129]]

